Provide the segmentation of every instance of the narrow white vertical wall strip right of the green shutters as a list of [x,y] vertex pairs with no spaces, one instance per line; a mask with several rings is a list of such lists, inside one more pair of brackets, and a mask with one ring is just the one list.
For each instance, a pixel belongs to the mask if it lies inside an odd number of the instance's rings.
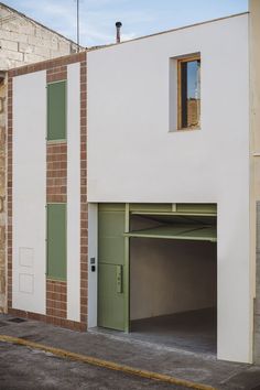
[[80,65],[67,66],[67,318],[80,321]]

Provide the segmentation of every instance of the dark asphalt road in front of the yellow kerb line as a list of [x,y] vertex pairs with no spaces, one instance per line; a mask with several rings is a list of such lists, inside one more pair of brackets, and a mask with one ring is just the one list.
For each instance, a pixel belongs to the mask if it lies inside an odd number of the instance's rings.
[[0,389],[185,390],[8,343],[0,343]]

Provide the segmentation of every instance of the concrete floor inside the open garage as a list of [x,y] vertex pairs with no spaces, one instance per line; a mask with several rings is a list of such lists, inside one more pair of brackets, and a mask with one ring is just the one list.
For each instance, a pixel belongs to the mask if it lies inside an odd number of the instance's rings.
[[216,355],[217,313],[206,308],[132,321],[131,336],[165,347]]

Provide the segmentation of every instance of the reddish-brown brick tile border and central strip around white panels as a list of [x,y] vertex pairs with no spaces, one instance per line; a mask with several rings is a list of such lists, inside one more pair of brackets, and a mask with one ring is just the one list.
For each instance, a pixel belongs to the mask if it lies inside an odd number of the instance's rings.
[[[31,72],[46,69],[46,83],[66,79],[67,65],[80,63],[80,322],[66,319],[67,283],[46,279],[46,315],[12,308],[12,79]],[[87,85],[86,52],[28,65],[9,72],[9,127],[8,127],[8,311],[12,314],[45,321],[54,325],[84,331],[87,327],[88,285],[88,231],[87,231]],[[67,201],[67,144],[66,141],[46,142],[46,203]]]

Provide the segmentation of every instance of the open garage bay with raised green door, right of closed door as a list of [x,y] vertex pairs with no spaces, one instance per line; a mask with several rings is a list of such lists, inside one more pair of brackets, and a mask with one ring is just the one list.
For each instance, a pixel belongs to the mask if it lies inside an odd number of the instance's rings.
[[195,353],[217,349],[216,215],[130,215],[130,332]]

